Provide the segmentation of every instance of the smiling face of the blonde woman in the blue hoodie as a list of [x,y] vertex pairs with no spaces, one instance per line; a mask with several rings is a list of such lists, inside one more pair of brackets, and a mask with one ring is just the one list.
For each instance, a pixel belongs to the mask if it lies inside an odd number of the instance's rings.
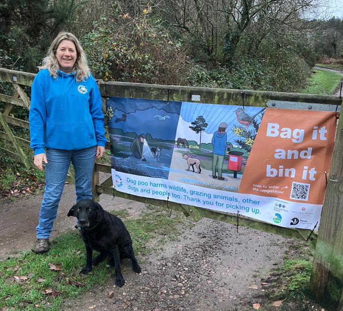
[[58,67],[65,74],[70,74],[73,71],[77,53],[75,45],[72,41],[62,40],[56,50],[56,58]]

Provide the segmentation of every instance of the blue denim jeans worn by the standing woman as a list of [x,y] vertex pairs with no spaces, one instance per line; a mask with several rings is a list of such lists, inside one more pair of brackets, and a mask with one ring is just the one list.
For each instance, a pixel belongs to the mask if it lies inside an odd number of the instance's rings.
[[96,147],[73,151],[47,149],[46,156],[48,160],[45,166],[46,184],[39,211],[39,224],[36,227],[37,238],[49,238],[50,236],[71,162],[75,170],[76,202],[92,199],[92,175]]

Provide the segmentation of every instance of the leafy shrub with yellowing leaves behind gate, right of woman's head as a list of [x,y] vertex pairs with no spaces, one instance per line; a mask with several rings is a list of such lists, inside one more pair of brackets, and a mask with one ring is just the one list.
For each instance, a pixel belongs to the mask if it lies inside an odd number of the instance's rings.
[[[151,9],[149,9],[151,10]],[[182,85],[188,61],[158,16],[147,9],[136,18],[115,7],[81,38],[90,67],[104,81]],[[183,74],[185,73],[185,74]]]

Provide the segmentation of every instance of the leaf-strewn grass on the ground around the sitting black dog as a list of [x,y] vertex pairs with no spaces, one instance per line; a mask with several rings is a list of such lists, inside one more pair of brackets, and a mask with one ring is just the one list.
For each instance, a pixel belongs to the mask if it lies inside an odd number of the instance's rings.
[[[176,238],[180,225],[185,224],[182,213],[169,218],[168,210],[148,208],[138,219],[125,220],[129,216],[125,209],[113,212],[123,218],[138,258]],[[91,274],[81,276],[79,271],[85,262],[84,243],[76,231],[58,236],[47,254],[22,252],[17,258],[0,261],[0,310],[59,311],[63,300],[105,283],[114,274],[114,269],[102,262]],[[51,270],[49,263],[60,270]]]

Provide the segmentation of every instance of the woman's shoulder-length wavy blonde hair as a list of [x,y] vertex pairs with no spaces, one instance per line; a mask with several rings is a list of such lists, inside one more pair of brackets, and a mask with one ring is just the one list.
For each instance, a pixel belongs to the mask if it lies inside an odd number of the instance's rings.
[[42,66],[39,66],[38,69],[48,69],[51,77],[57,77],[58,61],[56,58],[56,51],[62,40],[69,40],[75,45],[76,61],[73,71],[76,71],[77,82],[85,80],[90,75],[86,55],[77,38],[70,32],[63,31],[57,35],[57,37],[51,42],[47,56],[43,58]]

